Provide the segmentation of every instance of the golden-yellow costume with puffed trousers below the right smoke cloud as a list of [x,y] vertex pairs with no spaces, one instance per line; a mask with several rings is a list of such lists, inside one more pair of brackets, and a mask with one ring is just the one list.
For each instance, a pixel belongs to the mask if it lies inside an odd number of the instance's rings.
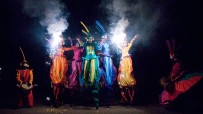
[[122,56],[121,56],[121,61],[120,61],[120,66],[119,66],[119,74],[118,74],[118,84],[120,88],[125,88],[125,87],[134,87],[136,84],[136,80],[132,74],[133,67],[132,67],[132,59],[130,55],[128,54],[131,46],[132,46],[132,41],[127,47],[122,47]]

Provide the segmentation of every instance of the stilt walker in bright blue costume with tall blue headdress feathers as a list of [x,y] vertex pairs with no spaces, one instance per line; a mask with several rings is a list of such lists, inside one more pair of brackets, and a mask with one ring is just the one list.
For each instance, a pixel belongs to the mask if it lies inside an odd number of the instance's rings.
[[110,99],[113,95],[113,85],[116,81],[117,70],[112,61],[112,55],[110,54],[110,41],[108,41],[108,35],[104,30],[104,27],[96,21],[96,28],[102,34],[102,39],[100,42],[100,69],[101,69],[101,79],[104,82],[102,90],[104,90],[105,103],[109,107]]

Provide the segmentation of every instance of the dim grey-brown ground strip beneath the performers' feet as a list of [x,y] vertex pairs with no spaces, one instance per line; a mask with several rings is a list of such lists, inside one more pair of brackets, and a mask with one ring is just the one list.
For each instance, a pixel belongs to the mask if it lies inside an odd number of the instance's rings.
[[161,105],[145,105],[145,106],[110,106],[95,107],[63,105],[58,108],[46,105],[35,105],[33,108],[1,108],[0,114],[182,114],[179,112],[165,110]]

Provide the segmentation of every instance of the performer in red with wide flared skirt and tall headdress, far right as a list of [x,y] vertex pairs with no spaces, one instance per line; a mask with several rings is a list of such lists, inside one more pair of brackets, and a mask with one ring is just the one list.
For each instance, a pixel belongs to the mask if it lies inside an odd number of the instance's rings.
[[172,42],[172,46],[170,45],[169,41],[166,43],[169,48],[170,58],[173,59],[174,65],[168,82],[164,82],[164,91],[162,92],[160,98],[161,104],[168,104],[174,101],[180,94],[185,93],[195,84],[197,84],[203,76],[203,73],[198,72],[183,73],[182,62],[177,59],[175,54],[175,41]]

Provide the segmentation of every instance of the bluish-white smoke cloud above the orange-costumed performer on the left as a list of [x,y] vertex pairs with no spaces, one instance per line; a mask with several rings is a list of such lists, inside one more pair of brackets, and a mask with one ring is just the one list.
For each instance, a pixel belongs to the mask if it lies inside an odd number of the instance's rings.
[[23,12],[46,27],[49,34],[62,34],[68,26],[66,7],[59,0],[24,0]]

